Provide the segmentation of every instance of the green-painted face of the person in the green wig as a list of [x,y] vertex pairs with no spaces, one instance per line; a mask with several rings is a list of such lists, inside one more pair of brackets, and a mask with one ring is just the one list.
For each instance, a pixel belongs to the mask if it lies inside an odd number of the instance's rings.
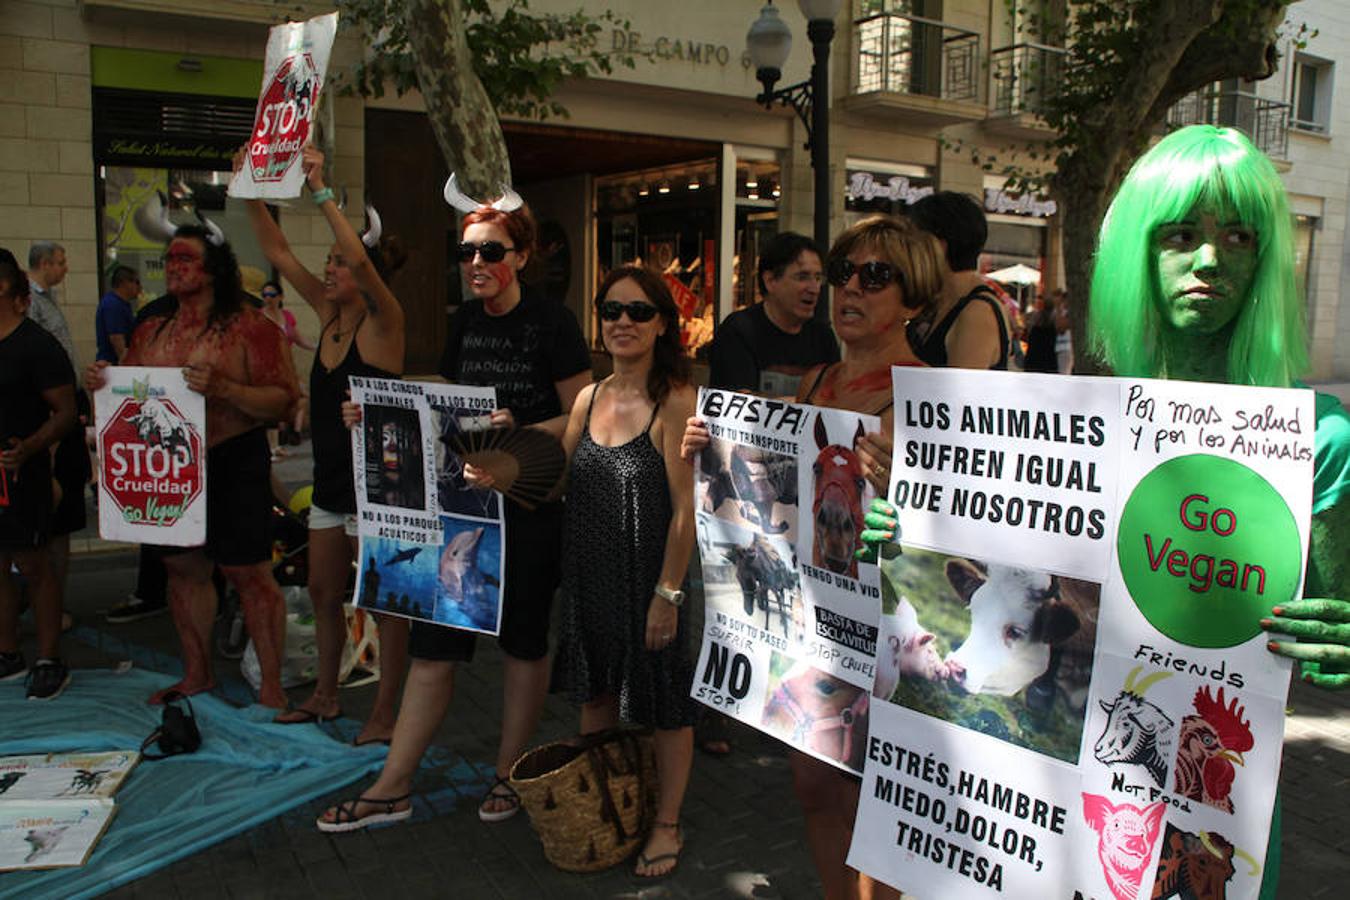
[[1212,335],[1247,302],[1257,269],[1256,228],[1227,204],[1202,200],[1181,221],[1153,233],[1162,317],[1172,328]]

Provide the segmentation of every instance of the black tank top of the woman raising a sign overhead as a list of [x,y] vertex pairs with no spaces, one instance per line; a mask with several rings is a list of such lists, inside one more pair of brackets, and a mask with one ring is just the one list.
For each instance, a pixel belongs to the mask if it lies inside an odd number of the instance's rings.
[[[359,325],[358,325],[359,329]],[[324,331],[319,340],[323,341]],[[354,329],[356,331],[356,329]],[[335,368],[324,368],[315,351],[315,366],[309,370],[309,433],[315,452],[315,506],[329,513],[356,511],[356,484],[351,474],[351,433],[342,424],[342,405],[347,399],[347,379],[398,378],[394,372],[367,364],[360,358],[356,337],[352,336],[347,355]]]

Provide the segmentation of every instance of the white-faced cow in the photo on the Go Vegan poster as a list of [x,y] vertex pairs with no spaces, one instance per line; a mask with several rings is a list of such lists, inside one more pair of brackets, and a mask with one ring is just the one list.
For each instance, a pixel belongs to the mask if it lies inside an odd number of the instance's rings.
[[1049,710],[1065,687],[1071,708],[1083,710],[1098,586],[1007,565],[984,572],[959,559],[948,560],[946,578],[971,607],[971,634],[946,657],[957,685],[1000,696],[1026,690],[1035,711]]

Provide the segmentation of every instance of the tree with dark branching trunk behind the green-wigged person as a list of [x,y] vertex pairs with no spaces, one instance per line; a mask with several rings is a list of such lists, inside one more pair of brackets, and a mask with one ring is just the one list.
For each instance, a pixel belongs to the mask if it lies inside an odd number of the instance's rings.
[[1277,32],[1295,1],[1008,1],[1023,34],[1064,47],[1057,77],[1040,80],[1049,89],[1023,94],[1023,105],[1045,120],[1053,136],[1013,148],[1002,159],[953,146],[968,150],[986,171],[1007,175],[1011,188],[1046,190],[1058,202],[1075,347],[1088,345],[1092,252],[1125,174],[1150,138],[1161,134],[1168,109],[1188,93],[1227,78],[1274,74]]

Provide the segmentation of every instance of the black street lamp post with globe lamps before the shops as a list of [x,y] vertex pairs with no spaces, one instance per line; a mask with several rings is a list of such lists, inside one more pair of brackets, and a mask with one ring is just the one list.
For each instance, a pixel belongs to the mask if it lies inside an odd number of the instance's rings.
[[[792,50],[792,32],[778,15],[772,3],[765,3],[760,18],[745,35],[755,74],[764,85],[756,97],[765,109],[775,103],[796,111],[806,125],[806,148],[811,151],[814,171],[814,225],[815,243],[830,246],[830,40],[834,39],[834,16],[841,0],[798,0],[806,16],[806,36],[811,40],[811,77],[786,88],[774,89],[783,74],[783,63]],[[819,304],[817,313],[825,309]]]

